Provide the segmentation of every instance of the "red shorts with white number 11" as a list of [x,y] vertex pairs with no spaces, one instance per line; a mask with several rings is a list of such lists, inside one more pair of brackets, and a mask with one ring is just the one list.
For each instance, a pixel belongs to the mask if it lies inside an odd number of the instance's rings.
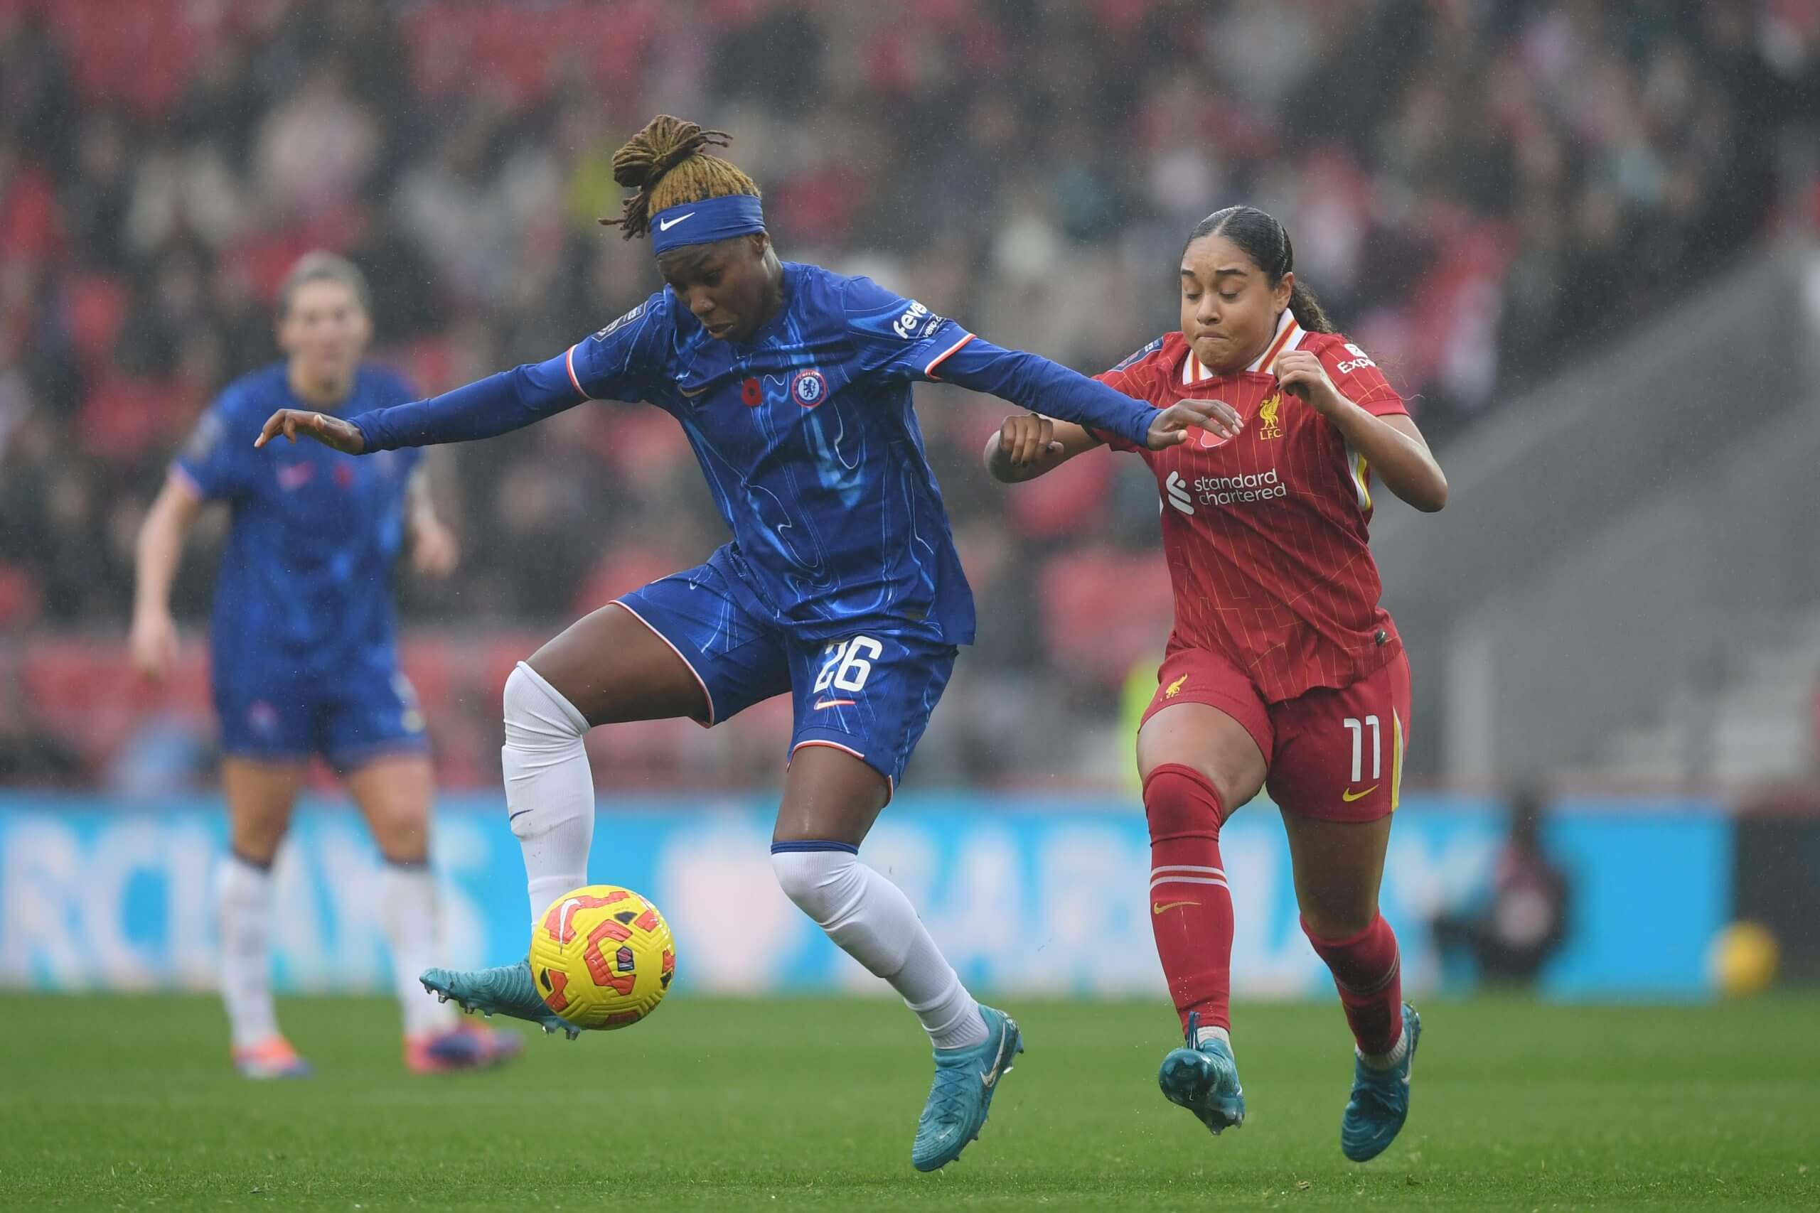
[[1401,653],[1338,691],[1316,687],[1267,704],[1227,658],[1178,647],[1158,669],[1143,718],[1174,704],[1207,704],[1238,720],[1263,753],[1270,798],[1290,813],[1374,822],[1396,811],[1409,746],[1409,658]]

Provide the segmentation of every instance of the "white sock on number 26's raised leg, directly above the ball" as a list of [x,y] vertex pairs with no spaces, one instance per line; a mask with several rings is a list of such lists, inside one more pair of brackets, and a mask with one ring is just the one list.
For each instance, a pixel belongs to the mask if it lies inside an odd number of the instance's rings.
[[506,813],[524,849],[531,924],[588,884],[593,844],[593,771],[582,737],[588,720],[542,675],[519,662],[506,678]]

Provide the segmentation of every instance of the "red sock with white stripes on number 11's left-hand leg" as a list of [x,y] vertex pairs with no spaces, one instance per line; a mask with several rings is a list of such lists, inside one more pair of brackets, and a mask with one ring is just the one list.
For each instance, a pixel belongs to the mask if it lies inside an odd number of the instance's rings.
[[1232,1028],[1232,893],[1219,862],[1219,793],[1167,762],[1143,784],[1150,818],[1150,929],[1181,1028]]

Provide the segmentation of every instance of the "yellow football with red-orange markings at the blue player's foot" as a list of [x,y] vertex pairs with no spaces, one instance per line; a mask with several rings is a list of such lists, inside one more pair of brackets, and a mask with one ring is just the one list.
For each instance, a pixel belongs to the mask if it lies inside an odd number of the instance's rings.
[[544,1006],[577,1028],[613,1029],[657,1009],[677,949],[657,907],[612,884],[550,904],[531,929],[531,978]]

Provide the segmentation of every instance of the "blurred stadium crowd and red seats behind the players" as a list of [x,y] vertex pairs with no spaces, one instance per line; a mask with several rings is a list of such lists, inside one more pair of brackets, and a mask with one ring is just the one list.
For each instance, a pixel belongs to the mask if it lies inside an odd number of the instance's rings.
[[[735,135],[786,256],[1088,371],[1174,327],[1196,218],[1265,206],[1447,440],[1813,222],[1820,4],[0,0],[7,660],[124,631],[164,462],[275,356],[271,289],[306,249],[371,275],[377,353],[426,393],[642,298],[648,249],[595,220],[655,111]],[[1068,766],[1167,629],[1154,489],[1103,458],[1010,495],[976,462],[999,404],[925,389],[921,415],[983,618],[921,778]],[[657,411],[577,409],[439,476],[466,560],[406,587],[417,622],[546,633],[721,540]],[[206,604],[193,576],[178,606]],[[56,758],[35,687],[93,675],[25,673],[13,766],[91,778],[96,744]],[[486,755],[491,689],[453,698]]]

